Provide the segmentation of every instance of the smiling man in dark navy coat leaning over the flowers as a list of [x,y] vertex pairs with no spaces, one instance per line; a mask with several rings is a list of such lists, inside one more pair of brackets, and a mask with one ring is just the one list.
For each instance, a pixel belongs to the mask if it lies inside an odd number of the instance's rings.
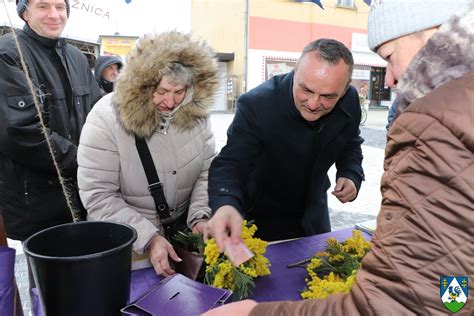
[[308,44],[293,72],[243,94],[227,144],[209,173],[209,228],[221,250],[238,242],[242,219],[257,235],[280,240],[331,230],[327,172],[336,163],[332,194],[357,197],[364,174],[354,61],[342,43]]

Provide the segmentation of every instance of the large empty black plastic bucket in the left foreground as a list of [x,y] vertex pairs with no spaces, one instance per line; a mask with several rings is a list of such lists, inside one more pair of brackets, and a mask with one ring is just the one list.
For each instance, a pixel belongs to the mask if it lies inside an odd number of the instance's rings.
[[48,316],[120,315],[130,295],[137,232],[112,222],[79,222],[42,230],[24,243]]

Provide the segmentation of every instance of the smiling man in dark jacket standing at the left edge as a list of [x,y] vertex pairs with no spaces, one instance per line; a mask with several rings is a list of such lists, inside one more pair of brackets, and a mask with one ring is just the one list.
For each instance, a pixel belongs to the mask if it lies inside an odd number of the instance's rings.
[[[26,22],[17,37],[73,212],[79,135],[100,89],[85,56],[59,38],[69,16],[64,0],[17,1]],[[25,240],[72,221],[40,126],[13,34],[0,38],[0,208],[9,238]]]

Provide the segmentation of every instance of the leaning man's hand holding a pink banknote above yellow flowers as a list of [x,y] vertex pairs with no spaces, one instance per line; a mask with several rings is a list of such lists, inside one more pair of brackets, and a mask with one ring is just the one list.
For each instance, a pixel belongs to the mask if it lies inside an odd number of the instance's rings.
[[225,241],[229,238],[229,233],[233,244],[241,242],[242,222],[242,215],[240,215],[235,207],[230,205],[221,206],[211,217],[207,226],[221,252],[225,249]]

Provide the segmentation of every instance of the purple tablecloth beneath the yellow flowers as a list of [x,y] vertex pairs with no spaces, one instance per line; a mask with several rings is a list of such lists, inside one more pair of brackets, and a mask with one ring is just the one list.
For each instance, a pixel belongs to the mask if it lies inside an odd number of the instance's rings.
[[[287,268],[288,264],[313,256],[326,246],[326,239],[334,237],[343,241],[352,235],[352,228],[343,229],[326,234],[295,239],[291,241],[271,244],[267,248],[266,256],[271,262],[271,275],[260,277],[255,282],[252,298],[258,302],[300,300],[300,291],[305,287],[306,269],[301,267]],[[362,232],[366,239],[370,235]],[[153,268],[132,272],[130,286],[130,302],[159,284],[163,278],[156,275]],[[36,315],[43,315],[35,306]]]

